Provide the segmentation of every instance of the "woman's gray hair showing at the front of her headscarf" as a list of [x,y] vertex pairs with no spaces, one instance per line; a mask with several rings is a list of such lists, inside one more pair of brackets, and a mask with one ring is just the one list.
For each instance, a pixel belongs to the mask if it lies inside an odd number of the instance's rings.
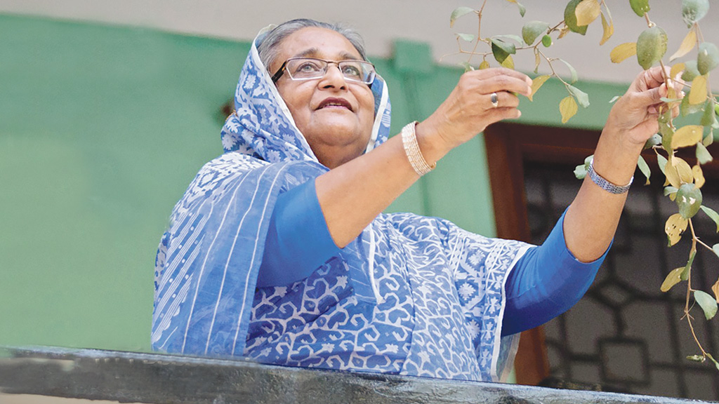
[[[270,32],[267,32],[265,37],[262,37],[257,44],[257,52],[260,53],[260,60],[265,65],[265,68],[269,69],[270,65],[275,61],[279,53],[278,45],[286,37],[292,35],[294,32],[307,27],[317,27],[331,29],[332,31],[339,32],[342,34],[349,43],[357,49],[359,56],[362,60],[367,60],[365,55],[365,41],[362,40],[362,36],[352,28],[346,27],[342,24],[329,24],[327,22],[315,21],[313,19],[293,19],[288,22],[274,27]],[[272,74],[274,72],[270,72]]]

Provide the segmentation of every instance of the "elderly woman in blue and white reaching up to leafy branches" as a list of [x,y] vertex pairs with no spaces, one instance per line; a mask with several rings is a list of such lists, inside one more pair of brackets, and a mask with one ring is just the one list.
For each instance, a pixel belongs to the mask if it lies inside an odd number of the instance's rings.
[[225,154],[162,237],[153,348],[498,380],[518,332],[592,283],[667,93],[649,70],[616,102],[590,175],[540,247],[381,213],[454,147],[518,118],[530,86],[513,70],[464,73],[434,114],[387,139],[387,86],[354,32],[304,19],[261,32]]

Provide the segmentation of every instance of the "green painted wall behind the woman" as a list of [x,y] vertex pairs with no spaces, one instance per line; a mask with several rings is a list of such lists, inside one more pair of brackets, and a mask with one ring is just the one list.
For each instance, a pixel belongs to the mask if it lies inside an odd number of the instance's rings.
[[[404,52],[404,50],[411,50]],[[145,351],[155,249],[175,201],[221,153],[220,107],[248,42],[0,15],[0,344]],[[393,132],[434,111],[462,73],[398,42],[373,59]],[[622,87],[582,83],[603,123]],[[521,121],[556,125],[545,84]],[[454,150],[390,211],[495,234],[481,137]]]

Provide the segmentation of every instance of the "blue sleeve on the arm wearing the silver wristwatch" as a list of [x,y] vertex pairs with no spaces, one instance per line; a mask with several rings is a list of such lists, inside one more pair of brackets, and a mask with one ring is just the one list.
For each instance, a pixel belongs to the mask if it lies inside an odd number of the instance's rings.
[[587,293],[608,251],[593,262],[574,258],[562,214],[544,244],[529,249],[509,274],[502,335],[533,329],[569,310]]

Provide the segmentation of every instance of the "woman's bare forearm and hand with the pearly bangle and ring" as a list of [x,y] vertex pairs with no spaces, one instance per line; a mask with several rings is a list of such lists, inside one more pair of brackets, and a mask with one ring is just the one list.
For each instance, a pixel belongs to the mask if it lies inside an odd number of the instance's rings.
[[[416,126],[424,159],[436,162],[489,124],[518,118],[519,99],[513,93],[528,96],[530,92],[531,80],[514,70],[464,73],[444,103]],[[498,95],[498,107],[491,104],[492,93]],[[334,243],[340,248],[347,246],[418,179],[400,136],[320,175],[317,198]]]

